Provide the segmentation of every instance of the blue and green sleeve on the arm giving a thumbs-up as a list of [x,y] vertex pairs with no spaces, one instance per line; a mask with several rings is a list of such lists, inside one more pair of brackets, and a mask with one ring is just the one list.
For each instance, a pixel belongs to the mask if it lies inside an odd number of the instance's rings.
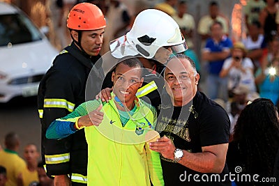
[[100,105],[99,100],[88,101],[80,104],[72,113],[63,118],[58,118],[50,124],[47,128],[47,139],[63,139],[70,134],[75,133],[77,130],[74,125],[75,122],[81,117],[98,108]]

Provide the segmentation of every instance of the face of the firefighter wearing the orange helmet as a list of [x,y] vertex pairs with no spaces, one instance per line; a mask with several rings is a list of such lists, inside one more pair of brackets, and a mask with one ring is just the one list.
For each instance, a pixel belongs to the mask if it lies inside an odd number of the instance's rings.
[[[100,53],[100,49],[103,44],[104,32],[105,29],[82,31],[82,40],[80,40],[80,43],[86,54],[89,54],[90,56],[97,56]],[[73,38],[78,41],[77,31],[71,31],[71,33]]]

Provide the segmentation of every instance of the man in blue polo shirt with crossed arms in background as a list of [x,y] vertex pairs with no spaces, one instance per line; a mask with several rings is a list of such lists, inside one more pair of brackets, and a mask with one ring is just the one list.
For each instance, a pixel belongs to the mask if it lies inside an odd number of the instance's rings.
[[206,77],[206,91],[211,99],[221,98],[228,100],[227,79],[219,76],[225,59],[230,55],[232,40],[223,34],[223,25],[213,22],[211,25],[211,38],[206,40],[202,52],[202,59],[207,61],[208,75]]

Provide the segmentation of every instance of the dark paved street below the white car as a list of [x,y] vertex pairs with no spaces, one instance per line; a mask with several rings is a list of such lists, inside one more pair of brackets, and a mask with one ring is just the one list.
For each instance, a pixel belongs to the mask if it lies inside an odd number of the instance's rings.
[[8,104],[0,104],[0,144],[4,147],[4,137],[8,132],[16,132],[21,139],[20,155],[29,143],[40,152],[40,120],[36,97],[15,98]]

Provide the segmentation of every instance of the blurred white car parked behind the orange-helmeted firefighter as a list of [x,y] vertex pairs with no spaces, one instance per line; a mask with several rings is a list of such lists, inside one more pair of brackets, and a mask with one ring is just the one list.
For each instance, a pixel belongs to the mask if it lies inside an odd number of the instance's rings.
[[37,95],[57,54],[22,10],[0,2],[0,102]]

